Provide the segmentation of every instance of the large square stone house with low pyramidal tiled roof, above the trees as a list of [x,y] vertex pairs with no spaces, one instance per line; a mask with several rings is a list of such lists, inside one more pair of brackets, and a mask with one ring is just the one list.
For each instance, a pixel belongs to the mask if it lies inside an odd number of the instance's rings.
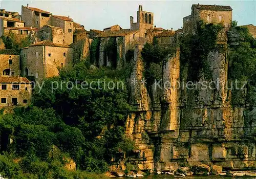
[[20,52],[20,66],[23,76],[33,76],[41,81],[59,75],[58,68],[71,68],[73,49],[65,44],[44,40]]

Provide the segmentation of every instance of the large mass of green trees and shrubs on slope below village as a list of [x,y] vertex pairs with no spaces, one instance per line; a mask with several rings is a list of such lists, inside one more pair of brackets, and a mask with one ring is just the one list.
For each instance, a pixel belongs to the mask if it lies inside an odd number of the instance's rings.
[[[87,172],[108,170],[117,152],[129,153],[135,147],[124,138],[124,121],[131,110],[125,83],[123,89],[104,88],[104,83],[100,89],[93,83],[95,89],[68,89],[65,85],[53,92],[51,84],[98,79],[117,84],[125,77],[111,69],[89,70],[81,62],[72,70],[60,71],[59,77],[45,80],[40,93],[39,88],[34,91],[33,106],[0,116],[6,143],[8,136],[13,140],[0,155],[0,173],[10,178],[97,178]],[[64,167],[70,158],[76,162],[75,172]]]

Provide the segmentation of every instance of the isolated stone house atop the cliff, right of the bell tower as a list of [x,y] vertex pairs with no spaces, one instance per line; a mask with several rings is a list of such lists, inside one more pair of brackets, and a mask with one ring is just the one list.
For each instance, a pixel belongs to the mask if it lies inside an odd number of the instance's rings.
[[183,17],[184,33],[195,33],[199,20],[203,20],[207,24],[221,24],[226,28],[231,27],[232,8],[219,5],[192,5],[191,15]]

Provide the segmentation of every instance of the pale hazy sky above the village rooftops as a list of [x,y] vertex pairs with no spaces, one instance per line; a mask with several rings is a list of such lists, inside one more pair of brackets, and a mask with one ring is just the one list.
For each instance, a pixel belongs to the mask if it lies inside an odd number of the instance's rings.
[[0,0],[1,8],[21,13],[22,5],[50,11],[55,15],[70,16],[87,30],[120,25],[130,28],[130,16],[137,19],[139,5],[144,11],[154,12],[154,25],[164,29],[182,27],[182,18],[191,13],[192,4],[230,5],[233,20],[239,25],[256,25],[256,0],[240,1],[88,1],[88,0]]

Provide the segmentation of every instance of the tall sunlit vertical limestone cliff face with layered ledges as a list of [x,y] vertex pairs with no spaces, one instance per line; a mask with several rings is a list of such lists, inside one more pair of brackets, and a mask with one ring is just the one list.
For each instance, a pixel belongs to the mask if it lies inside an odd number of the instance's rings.
[[136,47],[130,102],[137,108],[127,118],[126,136],[139,148],[140,158],[130,162],[140,169],[175,170],[201,164],[231,170],[256,168],[256,109],[245,102],[231,106],[223,34],[218,37],[223,48],[207,57],[211,80],[201,75],[193,89],[186,87],[188,66],[180,64],[180,49],[165,60],[160,82],[141,83],[143,46]]

